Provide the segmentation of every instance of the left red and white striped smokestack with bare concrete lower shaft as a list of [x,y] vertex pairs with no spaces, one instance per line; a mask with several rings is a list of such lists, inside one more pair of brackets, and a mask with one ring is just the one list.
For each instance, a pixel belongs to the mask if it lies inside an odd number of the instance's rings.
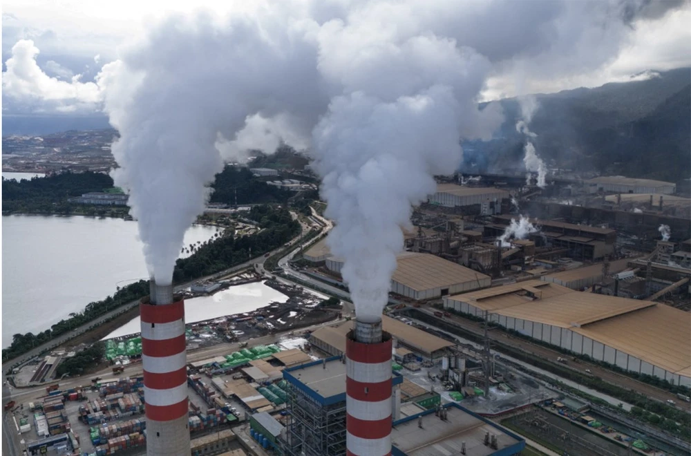
[[149,284],[142,300],[142,365],[146,403],[146,455],[189,456],[184,301],[173,285]]

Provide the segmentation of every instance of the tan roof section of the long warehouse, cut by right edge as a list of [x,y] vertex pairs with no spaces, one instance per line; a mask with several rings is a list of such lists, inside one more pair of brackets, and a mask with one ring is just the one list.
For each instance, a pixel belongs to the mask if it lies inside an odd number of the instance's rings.
[[669,372],[691,377],[691,319],[683,310],[656,304],[616,319],[596,321],[576,332]]

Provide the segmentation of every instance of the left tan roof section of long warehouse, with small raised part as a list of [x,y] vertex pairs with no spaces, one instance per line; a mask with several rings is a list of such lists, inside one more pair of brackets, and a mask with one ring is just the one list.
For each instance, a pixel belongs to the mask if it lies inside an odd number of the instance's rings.
[[575,292],[573,289],[562,287],[556,283],[533,280],[478,289],[474,292],[449,296],[448,299],[468,303],[480,310],[495,311],[514,305],[531,303],[533,302],[531,295],[544,300],[567,293]]

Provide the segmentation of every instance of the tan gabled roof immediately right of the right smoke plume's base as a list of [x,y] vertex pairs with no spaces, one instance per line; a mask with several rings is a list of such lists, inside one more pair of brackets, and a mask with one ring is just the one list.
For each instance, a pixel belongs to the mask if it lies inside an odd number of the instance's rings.
[[490,278],[432,254],[406,252],[397,257],[397,263],[393,280],[417,291]]

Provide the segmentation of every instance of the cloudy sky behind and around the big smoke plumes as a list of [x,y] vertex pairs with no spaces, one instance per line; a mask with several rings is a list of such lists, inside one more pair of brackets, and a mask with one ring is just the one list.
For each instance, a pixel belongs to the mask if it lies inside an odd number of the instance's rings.
[[[478,7],[482,2],[471,1],[464,3],[467,14],[453,12],[448,14],[446,22],[445,7],[430,8],[439,15],[430,22],[434,23],[431,28],[434,32],[441,30],[443,33],[453,28],[451,35],[459,46],[471,46],[491,59],[493,70],[478,101],[551,93],[579,86],[594,87],[606,82],[624,82],[632,77],[647,77],[650,74],[645,73],[647,70],[691,66],[689,2],[636,1],[646,9],[623,29],[601,31],[598,24],[594,24],[596,32],[589,35],[580,30],[587,28],[584,22],[589,16],[578,8],[571,8],[568,1],[557,0],[488,1],[486,3],[491,6],[481,12],[477,10],[483,9]],[[314,17],[323,23],[330,16],[344,17],[359,3],[357,0],[323,0],[319,6],[314,6],[314,2],[305,0],[292,2],[293,6],[304,4],[304,7],[286,14]],[[604,1],[578,0],[570,3],[605,4]],[[615,3],[616,0],[612,4]],[[628,0],[617,4],[627,3],[633,4]],[[256,14],[262,8],[275,6],[276,2],[272,1],[4,1],[3,114],[100,113],[102,94],[97,77],[104,64],[118,59],[123,49],[141,41],[169,15],[191,15],[201,9],[222,17],[247,12]],[[564,12],[569,8],[574,11]],[[395,18],[395,14],[390,15],[390,19]],[[496,30],[480,34],[475,32],[476,26]],[[534,46],[521,50],[518,46],[523,45],[523,40],[534,41]],[[572,46],[574,43],[578,46]],[[564,46],[562,51],[560,46]],[[13,48],[17,54],[15,60],[21,61],[15,64],[13,74],[8,75],[7,63]]]

